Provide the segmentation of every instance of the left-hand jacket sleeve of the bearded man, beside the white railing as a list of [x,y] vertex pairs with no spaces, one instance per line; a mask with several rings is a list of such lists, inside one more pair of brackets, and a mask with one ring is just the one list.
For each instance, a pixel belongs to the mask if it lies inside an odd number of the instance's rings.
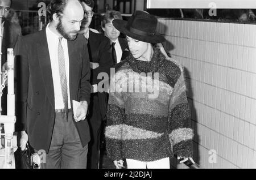
[[26,44],[22,36],[19,36],[16,46],[14,48],[15,66],[16,66],[16,116],[17,122],[15,124],[16,131],[26,130],[26,113],[27,113],[27,97],[28,97],[28,55]]

